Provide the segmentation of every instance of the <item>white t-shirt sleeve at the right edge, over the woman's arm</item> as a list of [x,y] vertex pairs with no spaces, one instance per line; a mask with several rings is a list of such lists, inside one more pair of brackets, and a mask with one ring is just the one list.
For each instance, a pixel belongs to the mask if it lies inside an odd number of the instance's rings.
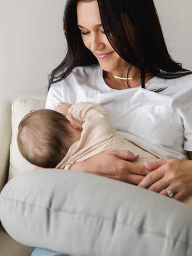
[[181,105],[181,117],[184,125],[184,149],[192,151],[192,91],[187,93]]

